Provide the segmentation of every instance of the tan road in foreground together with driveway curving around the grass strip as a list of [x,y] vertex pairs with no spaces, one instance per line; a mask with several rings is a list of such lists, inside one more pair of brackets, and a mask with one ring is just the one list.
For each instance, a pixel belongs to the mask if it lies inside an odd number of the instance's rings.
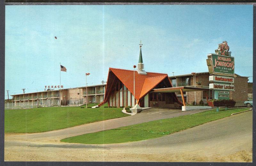
[[59,141],[67,135],[156,120],[162,114],[170,118],[190,113],[180,110],[149,110],[134,116],[75,128],[37,134],[5,134],[5,161],[252,161],[252,111],[144,141],[105,145]]

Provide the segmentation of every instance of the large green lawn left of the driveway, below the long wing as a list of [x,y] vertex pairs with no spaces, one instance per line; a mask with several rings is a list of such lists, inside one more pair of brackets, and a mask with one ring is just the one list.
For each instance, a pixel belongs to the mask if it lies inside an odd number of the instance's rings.
[[4,111],[6,133],[37,133],[129,116],[123,108],[42,107]]

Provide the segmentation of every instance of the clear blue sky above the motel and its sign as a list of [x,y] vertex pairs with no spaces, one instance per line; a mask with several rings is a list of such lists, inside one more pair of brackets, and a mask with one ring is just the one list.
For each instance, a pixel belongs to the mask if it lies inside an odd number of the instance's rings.
[[85,73],[88,86],[101,84],[110,67],[133,70],[140,40],[144,69],[169,76],[208,72],[207,54],[227,41],[235,73],[252,82],[252,5],[5,7],[5,99],[60,78],[64,88],[85,86]]

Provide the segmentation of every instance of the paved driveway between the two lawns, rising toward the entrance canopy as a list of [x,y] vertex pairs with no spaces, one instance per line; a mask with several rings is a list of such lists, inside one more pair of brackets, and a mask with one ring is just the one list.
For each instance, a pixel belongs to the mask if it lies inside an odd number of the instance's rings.
[[44,142],[46,141],[56,142],[56,141],[60,141],[63,138],[68,138],[76,135],[94,133],[94,132],[109,130],[117,127],[149,122],[149,121],[158,120],[158,119],[173,118],[173,117],[188,115],[188,114],[200,112],[200,111],[202,110],[181,111],[180,109],[153,108],[149,110],[144,110],[140,113],[137,113],[136,115],[123,117],[123,118],[109,119],[109,120],[89,123],[89,124],[75,126],[75,127],[69,127],[61,130],[43,132],[43,133],[17,134],[17,135],[12,135],[11,137],[8,137],[8,134],[7,134],[6,137],[9,139],[24,140],[24,141],[28,139],[30,141],[40,141],[43,139]]

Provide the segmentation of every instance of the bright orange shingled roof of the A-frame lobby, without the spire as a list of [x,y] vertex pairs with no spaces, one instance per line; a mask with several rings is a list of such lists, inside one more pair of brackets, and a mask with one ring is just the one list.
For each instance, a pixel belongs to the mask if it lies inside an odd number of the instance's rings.
[[[109,68],[109,70],[111,70],[116,75],[116,77],[122,83],[124,83],[127,89],[130,90],[131,93],[134,95],[133,70],[115,68]],[[147,72],[147,75],[142,75],[138,74],[138,72],[135,71],[135,98],[140,99],[141,97],[143,97],[166,77],[168,77],[168,75],[163,73]]]

